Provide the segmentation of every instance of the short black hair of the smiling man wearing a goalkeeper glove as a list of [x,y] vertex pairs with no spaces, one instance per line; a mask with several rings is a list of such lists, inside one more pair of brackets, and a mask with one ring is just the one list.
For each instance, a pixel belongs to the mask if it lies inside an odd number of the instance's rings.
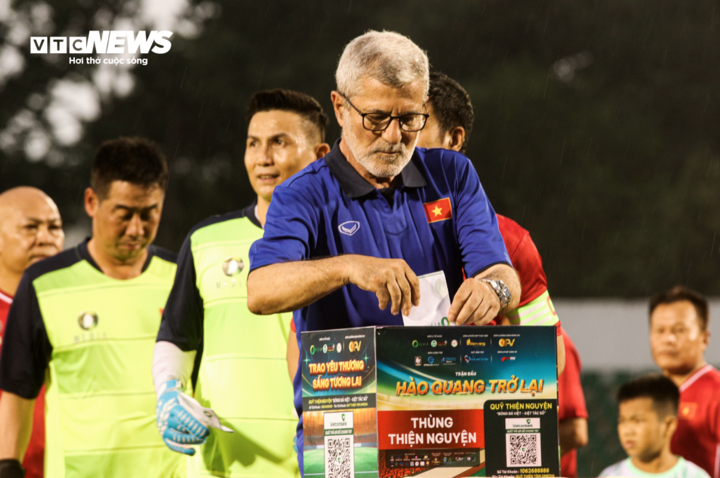
[[261,111],[290,111],[307,120],[320,133],[320,143],[325,141],[325,129],[328,117],[320,103],[310,95],[299,91],[276,88],[274,90],[258,91],[250,98],[247,110],[247,121]]

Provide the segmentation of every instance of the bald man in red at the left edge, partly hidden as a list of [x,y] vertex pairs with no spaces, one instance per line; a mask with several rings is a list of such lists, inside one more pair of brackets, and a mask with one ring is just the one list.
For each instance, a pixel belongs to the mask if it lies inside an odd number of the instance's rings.
[[[31,187],[17,187],[0,194],[0,347],[10,304],[23,272],[60,252],[64,239],[60,212],[47,194]],[[23,460],[27,478],[43,476],[44,409],[43,390],[35,401],[30,445]],[[0,475],[2,468],[0,460]]]

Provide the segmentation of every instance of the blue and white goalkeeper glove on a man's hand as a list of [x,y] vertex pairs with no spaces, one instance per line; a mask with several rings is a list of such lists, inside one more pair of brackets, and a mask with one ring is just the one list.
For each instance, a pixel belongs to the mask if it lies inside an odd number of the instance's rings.
[[171,450],[185,455],[195,454],[191,445],[205,443],[210,433],[208,427],[232,433],[232,430],[220,424],[215,412],[183,393],[179,380],[168,380],[160,387],[155,414],[165,444]]

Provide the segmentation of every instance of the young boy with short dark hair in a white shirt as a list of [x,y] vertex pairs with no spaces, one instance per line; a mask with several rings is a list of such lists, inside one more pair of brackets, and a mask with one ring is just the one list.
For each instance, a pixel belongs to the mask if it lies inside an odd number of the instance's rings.
[[620,387],[618,435],[628,458],[599,476],[709,478],[702,468],[670,451],[678,424],[677,386],[660,374],[635,378]]

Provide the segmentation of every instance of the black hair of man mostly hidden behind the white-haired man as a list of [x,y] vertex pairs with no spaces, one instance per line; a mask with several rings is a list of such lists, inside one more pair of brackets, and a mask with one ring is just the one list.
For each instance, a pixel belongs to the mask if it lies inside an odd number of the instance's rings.
[[429,97],[428,101],[440,125],[440,134],[448,133],[458,126],[465,129],[465,141],[460,149],[461,153],[465,153],[475,120],[470,95],[457,81],[444,73],[433,71],[430,73]]

